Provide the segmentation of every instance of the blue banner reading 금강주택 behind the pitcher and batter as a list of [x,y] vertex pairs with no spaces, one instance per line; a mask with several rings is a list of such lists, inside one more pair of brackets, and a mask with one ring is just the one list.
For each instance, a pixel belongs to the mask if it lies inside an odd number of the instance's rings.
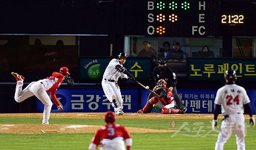
[[[122,89],[123,111],[136,112],[138,109],[138,89]],[[102,89],[58,89],[56,96],[64,110],[54,104],[51,112],[106,112],[113,108]],[[37,112],[43,112],[44,105],[37,99]]]

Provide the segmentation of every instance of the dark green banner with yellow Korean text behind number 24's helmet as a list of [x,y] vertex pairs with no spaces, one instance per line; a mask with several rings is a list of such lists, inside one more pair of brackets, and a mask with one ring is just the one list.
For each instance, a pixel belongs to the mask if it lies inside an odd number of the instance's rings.
[[189,80],[223,80],[228,69],[236,71],[237,80],[256,81],[256,59],[189,58]]

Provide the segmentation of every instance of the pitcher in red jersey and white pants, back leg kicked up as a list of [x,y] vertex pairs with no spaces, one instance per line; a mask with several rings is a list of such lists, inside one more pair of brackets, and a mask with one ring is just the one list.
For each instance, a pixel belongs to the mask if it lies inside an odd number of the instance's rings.
[[22,90],[22,87],[25,78],[18,73],[12,72],[12,75],[17,81],[14,96],[15,101],[20,103],[25,99],[35,95],[45,105],[42,124],[49,124],[48,120],[50,118],[50,112],[53,103],[47,93],[51,94],[51,98],[56,104],[58,110],[63,110],[63,107],[60,105],[56,97],[56,91],[60,87],[62,81],[64,80],[64,77],[70,75],[68,71],[69,70],[67,67],[61,67],[59,73],[53,72],[52,76],[46,79],[31,82],[24,90]]

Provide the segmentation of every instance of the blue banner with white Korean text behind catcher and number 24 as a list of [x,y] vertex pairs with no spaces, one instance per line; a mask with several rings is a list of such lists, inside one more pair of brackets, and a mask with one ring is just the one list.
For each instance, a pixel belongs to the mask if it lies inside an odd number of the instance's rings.
[[[214,99],[217,90],[214,89],[178,89],[178,94],[184,102],[186,113],[213,113]],[[147,103],[149,91],[141,90],[141,109]],[[252,113],[256,114],[256,90],[248,90]],[[153,109],[152,112],[161,112]]]

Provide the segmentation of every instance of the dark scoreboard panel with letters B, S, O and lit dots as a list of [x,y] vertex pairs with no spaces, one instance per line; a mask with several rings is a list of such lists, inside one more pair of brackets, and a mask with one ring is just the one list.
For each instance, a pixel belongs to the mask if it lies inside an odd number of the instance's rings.
[[218,1],[145,1],[146,37],[218,37]]

